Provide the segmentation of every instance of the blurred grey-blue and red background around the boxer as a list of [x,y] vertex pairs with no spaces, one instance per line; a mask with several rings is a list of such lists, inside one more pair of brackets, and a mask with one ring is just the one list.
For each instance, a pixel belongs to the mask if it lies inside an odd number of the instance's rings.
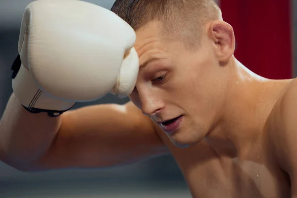
[[[0,0],[0,116],[12,93],[11,64],[17,55],[19,27],[32,0]],[[110,9],[114,0],[85,0]],[[236,57],[271,79],[296,77],[296,0],[217,0],[235,31]],[[125,103],[108,95],[74,108]],[[203,179],[203,178],[201,178]],[[0,162],[0,198],[190,198],[172,156],[107,170],[24,173]]]

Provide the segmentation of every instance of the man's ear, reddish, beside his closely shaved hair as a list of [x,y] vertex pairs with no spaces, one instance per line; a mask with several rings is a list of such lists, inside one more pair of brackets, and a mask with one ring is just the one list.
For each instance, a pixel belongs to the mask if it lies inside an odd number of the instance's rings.
[[214,21],[209,26],[208,35],[214,44],[219,61],[226,62],[229,60],[235,50],[235,37],[232,26],[224,21]]

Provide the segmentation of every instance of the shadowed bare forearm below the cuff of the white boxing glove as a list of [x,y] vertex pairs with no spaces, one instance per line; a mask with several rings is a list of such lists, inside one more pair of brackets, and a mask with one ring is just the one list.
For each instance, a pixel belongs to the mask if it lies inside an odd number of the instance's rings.
[[49,149],[60,119],[46,113],[29,113],[12,94],[0,120],[0,159],[17,169],[26,169]]

